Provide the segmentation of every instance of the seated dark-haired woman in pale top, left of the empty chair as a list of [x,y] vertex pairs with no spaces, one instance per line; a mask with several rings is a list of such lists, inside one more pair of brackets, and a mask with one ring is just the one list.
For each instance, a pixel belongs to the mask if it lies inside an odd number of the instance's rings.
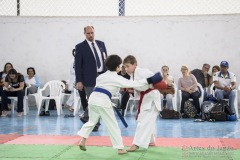
[[27,68],[27,76],[24,77],[27,87],[28,94],[37,93],[38,87],[40,87],[41,82],[39,77],[36,75],[35,69],[33,67]]

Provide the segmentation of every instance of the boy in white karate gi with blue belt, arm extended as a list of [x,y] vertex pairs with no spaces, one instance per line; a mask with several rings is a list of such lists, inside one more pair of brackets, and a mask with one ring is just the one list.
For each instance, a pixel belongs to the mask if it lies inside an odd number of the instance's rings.
[[[162,77],[160,77],[161,79],[156,80],[156,77],[154,79],[154,76],[152,76],[152,74],[150,75],[152,77],[145,77],[145,79],[142,80],[128,80],[117,74],[117,72],[120,71],[121,63],[122,59],[117,55],[111,55],[107,57],[105,65],[108,70],[107,72],[97,77],[95,88],[105,90],[112,95],[117,93],[120,88],[136,88],[140,91],[145,91],[146,89],[152,87],[152,85],[149,85],[149,83],[154,83],[153,81],[159,82],[162,79]],[[148,80],[146,80],[146,78],[148,78]],[[154,80],[149,82],[149,79]],[[78,135],[82,137],[79,142],[80,149],[86,151],[86,139],[92,132],[99,118],[101,118],[107,127],[113,148],[118,149],[118,154],[127,153],[127,151],[124,150],[121,132],[109,96],[104,92],[93,91],[89,97],[88,104],[89,121],[85,123],[82,126],[81,130],[78,132]]]

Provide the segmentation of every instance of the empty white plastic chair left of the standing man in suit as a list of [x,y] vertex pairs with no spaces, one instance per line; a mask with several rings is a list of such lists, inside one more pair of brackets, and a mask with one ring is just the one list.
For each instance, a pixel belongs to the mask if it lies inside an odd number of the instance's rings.
[[[42,93],[49,89],[49,96],[44,96]],[[62,92],[65,89],[65,84],[60,80],[52,80],[47,82],[42,89],[39,89],[37,92],[37,108],[38,108],[38,115],[40,113],[42,101],[45,99],[45,111],[48,110],[49,101],[50,99],[54,99],[56,102],[57,114],[60,115],[62,113],[62,106],[61,106],[61,98]]]

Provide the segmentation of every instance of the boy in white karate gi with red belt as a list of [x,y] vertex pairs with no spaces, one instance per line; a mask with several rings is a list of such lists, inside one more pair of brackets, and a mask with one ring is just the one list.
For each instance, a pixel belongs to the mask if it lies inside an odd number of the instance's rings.
[[[129,55],[123,60],[130,80],[139,80],[147,78],[153,73],[148,69],[141,69],[137,66],[137,60],[134,56]],[[135,89],[134,96],[140,95],[141,90]],[[133,145],[127,149],[128,152],[134,152],[139,147],[148,148],[149,145],[155,144],[156,119],[161,110],[160,92],[149,89],[140,96],[140,112],[137,116],[137,128],[133,140]],[[139,110],[139,109],[138,109]]]

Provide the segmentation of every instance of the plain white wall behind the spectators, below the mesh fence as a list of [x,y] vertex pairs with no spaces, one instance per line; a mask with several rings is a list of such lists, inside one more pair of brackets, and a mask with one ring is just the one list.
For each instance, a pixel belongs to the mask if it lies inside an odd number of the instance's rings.
[[108,54],[137,57],[139,66],[159,71],[164,64],[177,81],[180,67],[230,63],[239,81],[240,15],[162,17],[0,17],[0,67],[12,62],[26,74],[33,66],[43,82],[68,79],[72,49],[83,27],[95,27]]

